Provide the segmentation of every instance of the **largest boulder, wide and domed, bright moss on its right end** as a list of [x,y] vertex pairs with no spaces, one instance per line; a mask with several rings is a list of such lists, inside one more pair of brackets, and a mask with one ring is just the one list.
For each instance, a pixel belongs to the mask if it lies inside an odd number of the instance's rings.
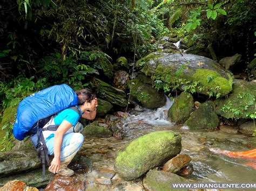
[[[144,61],[142,72],[163,88],[180,88],[210,96],[224,96],[232,90],[233,79],[217,62],[204,56],[177,53],[151,53],[158,55]],[[182,86],[181,86],[182,85]]]

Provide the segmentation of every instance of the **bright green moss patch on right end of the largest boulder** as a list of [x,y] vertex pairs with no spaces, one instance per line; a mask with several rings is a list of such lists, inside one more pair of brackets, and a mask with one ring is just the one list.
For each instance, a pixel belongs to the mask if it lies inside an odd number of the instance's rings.
[[200,83],[200,86],[203,88],[201,90],[203,93],[224,96],[232,91],[233,79],[230,74],[227,75],[228,80],[214,70],[197,69],[191,79],[197,80]]

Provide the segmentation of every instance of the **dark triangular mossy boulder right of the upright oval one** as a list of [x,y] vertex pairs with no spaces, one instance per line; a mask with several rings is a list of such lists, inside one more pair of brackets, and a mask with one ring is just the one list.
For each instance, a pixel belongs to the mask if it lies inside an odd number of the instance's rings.
[[192,112],[185,124],[189,129],[207,129],[219,126],[219,117],[215,113],[215,104],[207,101]]

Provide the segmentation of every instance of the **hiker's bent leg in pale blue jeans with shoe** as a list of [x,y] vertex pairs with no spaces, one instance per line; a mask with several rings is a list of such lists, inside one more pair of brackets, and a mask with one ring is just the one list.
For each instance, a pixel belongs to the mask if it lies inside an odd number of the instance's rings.
[[[80,133],[67,133],[63,136],[62,147],[60,151],[60,168],[58,173],[60,175],[72,175],[74,172],[67,166],[70,164],[73,157],[83,145],[84,137]],[[54,138],[46,142],[48,153],[53,154]]]

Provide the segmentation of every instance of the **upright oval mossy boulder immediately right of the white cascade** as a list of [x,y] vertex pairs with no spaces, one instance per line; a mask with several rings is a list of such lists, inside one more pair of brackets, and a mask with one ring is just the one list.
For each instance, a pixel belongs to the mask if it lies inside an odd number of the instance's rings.
[[168,110],[168,118],[172,122],[182,124],[190,117],[193,107],[193,96],[183,91]]

